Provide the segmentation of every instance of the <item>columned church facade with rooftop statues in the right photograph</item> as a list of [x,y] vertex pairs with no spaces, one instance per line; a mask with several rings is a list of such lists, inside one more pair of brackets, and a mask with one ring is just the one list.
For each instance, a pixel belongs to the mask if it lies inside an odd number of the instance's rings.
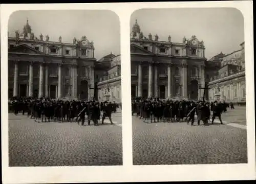
[[204,56],[204,42],[193,35],[182,42],[170,36],[160,41],[156,34],[143,35],[136,20],[131,32],[132,98],[200,100],[205,77],[215,65]]

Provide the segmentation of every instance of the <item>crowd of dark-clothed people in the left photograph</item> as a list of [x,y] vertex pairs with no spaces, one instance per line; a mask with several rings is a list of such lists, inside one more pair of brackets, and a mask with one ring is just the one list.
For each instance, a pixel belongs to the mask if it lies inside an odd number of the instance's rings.
[[[97,102],[83,100],[60,100],[50,98],[31,97],[13,97],[9,99],[9,113],[17,115],[22,112],[35,122],[76,122],[84,126],[84,122],[88,120],[88,125],[91,122],[94,125],[104,123],[105,118],[109,118],[111,124],[112,113],[117,112],[117,108],[121,105],[115,102]],[[103,113],[101,113],[103,112]]]

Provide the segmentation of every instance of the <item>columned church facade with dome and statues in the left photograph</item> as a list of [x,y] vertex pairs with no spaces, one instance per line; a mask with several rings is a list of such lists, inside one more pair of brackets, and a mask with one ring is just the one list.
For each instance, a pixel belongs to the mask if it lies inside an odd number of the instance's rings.
[[23,32],[8,33],[9,98],[50,97],[88,100],[94,89],[94,43],[86,36],[72,43],[35,37],[27,21]]

